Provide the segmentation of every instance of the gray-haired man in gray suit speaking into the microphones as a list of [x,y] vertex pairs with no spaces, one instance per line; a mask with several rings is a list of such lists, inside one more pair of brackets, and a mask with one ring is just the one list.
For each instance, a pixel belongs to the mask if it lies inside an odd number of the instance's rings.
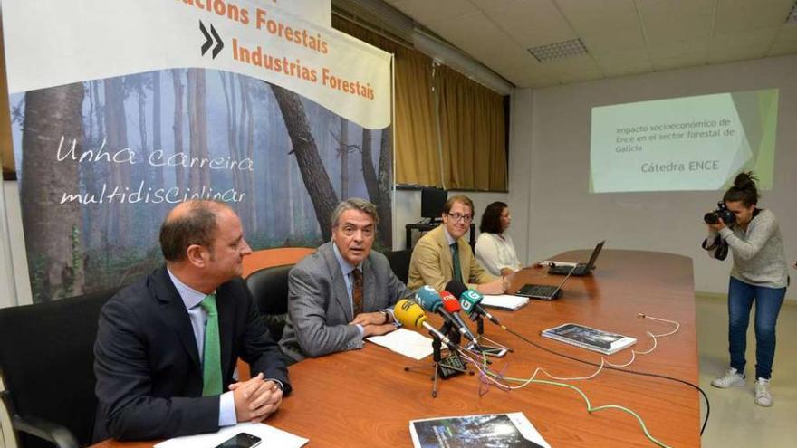
[[288,362],[362,348],[362,339],[396,329],[392,307],[411,292],[371,252],[379,215],[365,199],[332,213],[332,241],[296,264],[288,278],[288,321],[280,348]]

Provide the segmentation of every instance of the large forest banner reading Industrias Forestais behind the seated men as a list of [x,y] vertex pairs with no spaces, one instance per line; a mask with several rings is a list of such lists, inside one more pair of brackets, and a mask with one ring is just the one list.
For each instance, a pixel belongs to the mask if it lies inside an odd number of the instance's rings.
[[[118,11],[104,15],[99,0],[89,2],[95,17],[60,2],[34,12],[24,3],[5,2],[3,18],[34,301],[145,275],[163,262],[164,216],[197,197],[232,206],[255,250],[328,241],[334,206],[368,198],[381,218],[377,248],[391,247],[389,54],[275,7],[261,9],[268,2],[239,1],[234,16],[232,2],[219,15],[142,0],[144,12],[124,14],[126,24],[114,23]],[[70,26],[52,33],[48,16]],[[80,45],[148,21],[149,37],[126,43],[132,48],[125,54],[102,53],[101,64],[81,52],[35,57],[35,43],[19,48],[47,35],[52,44],[59,33],[77,33],[64,45]],[[159,29],[162,23],[169,29]],[[287,28],[303,37],[289,40]],[[169,33],[186,39],[172,41]],[[110,41],[109,48],[118,44]],[[52,80],[23,78],[32,67],[59,69]]]

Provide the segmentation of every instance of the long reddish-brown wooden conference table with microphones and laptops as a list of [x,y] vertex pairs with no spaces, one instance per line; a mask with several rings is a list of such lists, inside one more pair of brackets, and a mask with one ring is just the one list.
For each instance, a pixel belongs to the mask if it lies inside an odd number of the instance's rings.
[[[572,251],[554,259],[586,260],[589,253]],[[545,272],[544,268],[518,272],[512,291],[528,282],[557,284],[562,280]],[[626,368],[697,384],[691,259],[604,250],[592,276],[571,277],[563,290],[560,300],[533,300],[521,310],[496,311],[495,316],[509,329],[546,348],[593,362],[600,362],[600,354],[542,338],[540,330],[565,322],[581,323],[637,338],[635,348],[643,351],[652,346],[646,331],[661,334],[673,326],[639,318],[639,312],[676,320],[681,325],[676,334],[658,338],[656,350],[639,355]],[[493,365],[506,377],[530,377],[536,367],[558,377],[589,376],[596,370],[535,348],[489,322],[485,322],[485,336],[514,348],[514,353],[496,359]],[[631,351],[625,349],[608,360],[624,364],[630,356]],[[532,384],[512,392],[490,387],[480,396],[478,375],[465,375],[441,381],[437,398],[432,398],[431,367],[422,373],[404,371],[405,366],[419,364],[423,363],[373,344],[305,360],[290,368],[293,395],[266,423],[309,438],[310,447],[398,447],[412,445],[408,422],[413,419],[521,411],[554,447],[654,446],[631,415],[615,409],[590,414],[581,396],[562,386]],[[694,388],[607,369],[591,380],[570,384],[581,388],[593,406],[629,407],[648,425],[650,434],[667,445],[700,445],[700,405]],[[96,446],[138,448],[151,444],[105,441]]]

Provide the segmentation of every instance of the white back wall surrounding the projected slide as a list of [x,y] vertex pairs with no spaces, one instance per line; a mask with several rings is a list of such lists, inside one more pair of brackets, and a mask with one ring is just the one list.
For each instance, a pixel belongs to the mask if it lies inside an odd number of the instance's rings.
[[780,89],[774,185],[760,205],[780,221],[787,260],[797,259],[797,56],[516,92],[509,204],[515,224],[521,208],[528,212],[526,232],[515,226],[518,251],[539,261],[606,239],[608,248],[679,253],[694,259],[696,291],[725,292],[730,257],[709,260],[699,249],[703,214],[723,192],[588,193],[591,108],[773,87]]

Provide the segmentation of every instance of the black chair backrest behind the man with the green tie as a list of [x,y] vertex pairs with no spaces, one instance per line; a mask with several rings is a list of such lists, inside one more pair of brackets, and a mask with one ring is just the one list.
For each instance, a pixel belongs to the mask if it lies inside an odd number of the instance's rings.
[[[91,443],[94,339],[102,305],[116,291],[0,310],[0,375],[16,414],[62,424]],[[20,436],[26,448],[52,446]]]

